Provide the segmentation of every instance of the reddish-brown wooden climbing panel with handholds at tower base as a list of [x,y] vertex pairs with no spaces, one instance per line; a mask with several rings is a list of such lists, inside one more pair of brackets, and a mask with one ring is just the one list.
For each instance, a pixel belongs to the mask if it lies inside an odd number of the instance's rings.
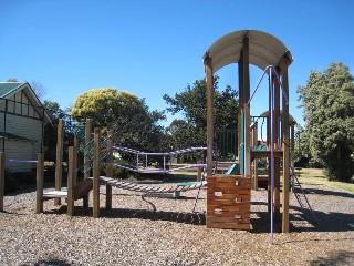
[[239,175],[208,177],[207,227],[250,229],[251,182]]

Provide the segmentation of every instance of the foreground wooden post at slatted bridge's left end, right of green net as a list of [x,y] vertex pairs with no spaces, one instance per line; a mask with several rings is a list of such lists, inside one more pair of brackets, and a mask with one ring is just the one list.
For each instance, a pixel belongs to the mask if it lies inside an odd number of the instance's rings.
[[93,217],[100,217],[101,130],[94,130]]

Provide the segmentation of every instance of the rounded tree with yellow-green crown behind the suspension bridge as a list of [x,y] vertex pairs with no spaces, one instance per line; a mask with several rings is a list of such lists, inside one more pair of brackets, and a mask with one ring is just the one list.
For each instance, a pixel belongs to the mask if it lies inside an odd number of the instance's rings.
[[165,147],[166,137],[157,124],[164,114],[150,112],[133,93],[114,88],[90,90],[76,98],[71,114],[77,121],[92,119],[104,131],[114,130],[119,145],[145,152]]

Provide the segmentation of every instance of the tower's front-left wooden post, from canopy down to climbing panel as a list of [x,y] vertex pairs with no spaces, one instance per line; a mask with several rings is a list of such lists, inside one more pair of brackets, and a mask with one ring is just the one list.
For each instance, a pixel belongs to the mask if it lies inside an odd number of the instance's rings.
[[214,147],[214,78],[211,58],[205,58],[207,76],[207,176],[212,175],[212,147]]

